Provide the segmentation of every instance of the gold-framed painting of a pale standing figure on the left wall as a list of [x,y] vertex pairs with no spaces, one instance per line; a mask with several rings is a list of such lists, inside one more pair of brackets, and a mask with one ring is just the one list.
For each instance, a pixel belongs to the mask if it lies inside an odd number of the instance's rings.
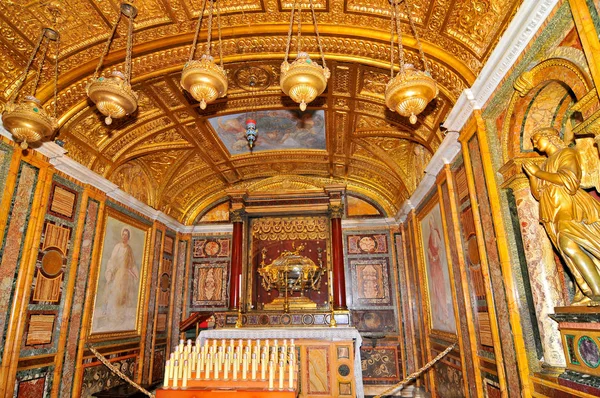
[[140,335],[151,228],[106,207],[96,256],[90,340]]

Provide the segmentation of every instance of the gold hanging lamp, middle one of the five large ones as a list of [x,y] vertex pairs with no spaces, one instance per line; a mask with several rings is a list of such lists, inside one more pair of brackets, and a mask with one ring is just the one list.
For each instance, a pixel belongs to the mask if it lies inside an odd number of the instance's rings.
[[[198,17],[196,25],[196,34],[190,51],[188,62],[183,67],[181,73],[181,87],[189,92],[196,101],[200,102],[200,108],[206,109],[206,104],[209,104],[217,98],[227,95],[227,73],[223,68],[223,45],[221,42],[221,12],[219,9],[219,0],[208,0],[210,6],[208,10],[208,32],[206,40],[206,51],[199,60],[194,59],[196,46],[198,44],[198,34],[202,26],[202,18],[206,1],[202,2],[202,10]],[[213,2],[217,8],[217,29],[219,32],[219,61],[217,65],[214,58],[211,56],[211,36],[212,36],[212,18],[213,18]]]

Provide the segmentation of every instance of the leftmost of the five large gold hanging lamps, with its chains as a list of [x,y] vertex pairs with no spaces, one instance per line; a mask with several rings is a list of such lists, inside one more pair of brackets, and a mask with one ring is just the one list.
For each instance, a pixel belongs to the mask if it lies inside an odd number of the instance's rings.
[[[54,22],[59,14],[59,9],[56,5],[50,5],[50,12],[54,15]],[[35,97],[35,93],[40,82],[44,61],[50,47],[50,42],[56,44],[56,54],[54,63],[54,113],[50,115],[42,107],[39,99]],[[58,51],[60,46],[60,35],[54,28],[43,28],[36,46],[29,58],[29,62],[25,67],[25,71],[17,82],[17,87],[6,104],[6,108],[2,113],[2,124],[10,131],[15,141],[21,143],[22,149],[27,149],[29,144],[37,143],[52,136],[58,128],[56,118],[56,98],[58,84]],[[35,61],[39,50],[43,48],[41,58],[38,60],[38,69],[33,83],[33,88],[30,95],[26,95],[19,101],[19,92],[29,75],[31,66]]]

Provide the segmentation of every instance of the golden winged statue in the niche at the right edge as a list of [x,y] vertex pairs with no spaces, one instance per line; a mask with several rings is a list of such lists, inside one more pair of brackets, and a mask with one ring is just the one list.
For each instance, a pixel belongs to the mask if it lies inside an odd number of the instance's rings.
[[584,183],[588,171],[598,170],[585,170],[594,163],[582,161],[584,152],[568,147],[553,128],[537,130],[531,140],[548,158],[539,166],[526,162],[523,169],[540,203],[540,222],[575,278],[572,305],[598,305],[600,202],[582,189],[589,185]]

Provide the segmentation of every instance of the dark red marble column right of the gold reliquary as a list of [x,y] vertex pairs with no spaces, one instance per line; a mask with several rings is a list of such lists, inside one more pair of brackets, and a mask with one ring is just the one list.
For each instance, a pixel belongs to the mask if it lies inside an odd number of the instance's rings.
[[347,310],[344,246],[342,241],[342,205],[329,207],[331,216],[331,263],[333,268],[333,309]]

